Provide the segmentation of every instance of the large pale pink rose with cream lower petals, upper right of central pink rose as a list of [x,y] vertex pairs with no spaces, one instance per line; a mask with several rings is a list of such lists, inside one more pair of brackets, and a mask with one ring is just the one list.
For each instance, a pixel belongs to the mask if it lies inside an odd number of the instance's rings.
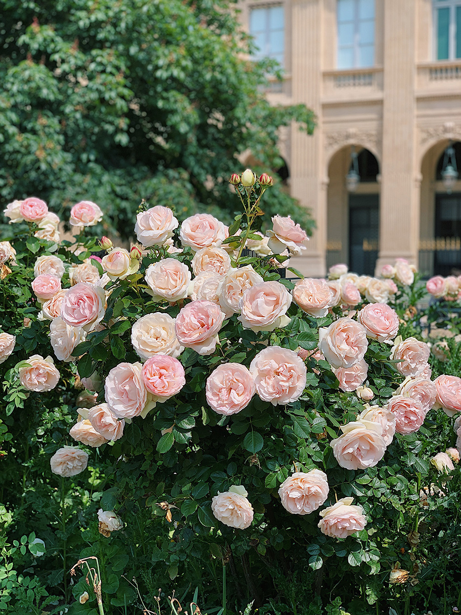
[[274,331],[290,322],[286,315],[290,304],[291,295],[280,282],[254,284],[242,295],[238,320],[246,329]]

